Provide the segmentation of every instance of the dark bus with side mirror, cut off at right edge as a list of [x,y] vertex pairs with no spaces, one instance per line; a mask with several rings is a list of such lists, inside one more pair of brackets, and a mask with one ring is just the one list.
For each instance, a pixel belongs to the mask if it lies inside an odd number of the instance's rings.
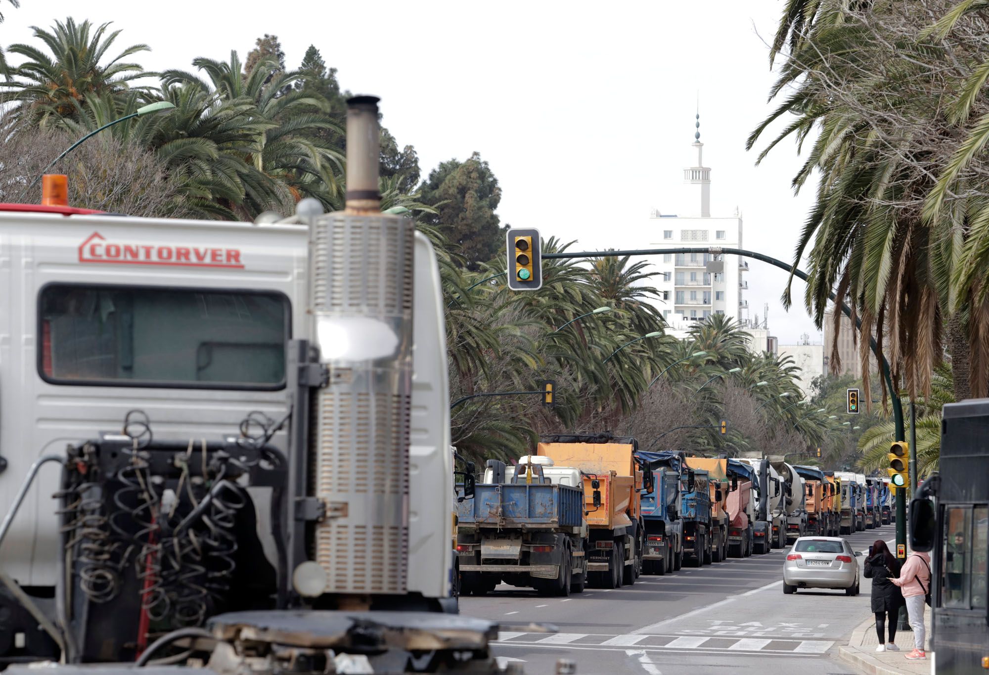
[[910,505],[910,545],[930,551],[937,671],[989,668],[989,399],[944,406],[940,472]]

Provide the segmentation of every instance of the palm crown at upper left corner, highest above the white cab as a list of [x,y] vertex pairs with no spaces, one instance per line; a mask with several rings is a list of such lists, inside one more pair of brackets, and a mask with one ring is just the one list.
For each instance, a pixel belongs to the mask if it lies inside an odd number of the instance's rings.
[[123,104],[135,91],[131,82],[151,74],[124,59],[149,48],[132,45],[108,60],[108,51],[121,33],[108,34],[109,27],[106,23],[94,29],[88,21],[76,24],[69,17],[64,23],[56,21],[50,31],[33,27],[48,53],[25,44],[7,48],[27,59],[13,70],[13,79],[0,82],[10,92],[7,100],[17,104],[11,118],[15,125],[45,125],[74,117],[78,104],[88,96],[109,95]]

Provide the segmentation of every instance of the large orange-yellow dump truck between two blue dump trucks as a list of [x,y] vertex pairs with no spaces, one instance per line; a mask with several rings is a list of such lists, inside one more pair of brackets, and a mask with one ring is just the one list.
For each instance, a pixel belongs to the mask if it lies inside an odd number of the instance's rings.
[[[641,490],[646,475],[633,456],[638,442],[611,434],[546,435],[537,453],[581,471],[587,523],[587,581],[617,588],[642,573],[645,529]],[[652,475],[648,477],[652,482]]]

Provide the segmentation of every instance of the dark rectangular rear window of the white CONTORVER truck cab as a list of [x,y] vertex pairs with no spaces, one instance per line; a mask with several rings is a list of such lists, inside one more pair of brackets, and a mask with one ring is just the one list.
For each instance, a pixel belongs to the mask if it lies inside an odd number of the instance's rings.
[[289,316],[272,292],[49,284],[39,373],[55,384],[280,389]]

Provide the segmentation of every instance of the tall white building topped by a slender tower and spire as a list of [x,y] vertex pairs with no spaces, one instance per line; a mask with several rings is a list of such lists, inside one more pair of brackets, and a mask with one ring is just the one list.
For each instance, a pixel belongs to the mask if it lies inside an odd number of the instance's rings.
[[[647,232],[650,248],[742,247],[742,218],[737,212],[731,218],[711,217],[711,169],[704,166],[699,120],[700,115],[692,144],[697,161],[683,169],[684,203],[675,215],[653,210]],[[654,258],[654,264],[661,272],[655,279],[665,301],[663,315],[674,330],[712,314],[726,314],[746,323],[749,304],[743,292],[748,282],[743,272],[749,263],[744,258],[716,252],[665,253],[661,259]]]

